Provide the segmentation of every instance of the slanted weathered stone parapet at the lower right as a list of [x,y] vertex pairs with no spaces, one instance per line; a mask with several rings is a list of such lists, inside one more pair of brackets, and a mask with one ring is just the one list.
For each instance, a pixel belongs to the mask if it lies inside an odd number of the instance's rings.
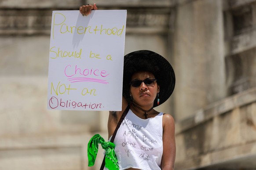
[[256,167],[256,88],[211,103],[176,124],[176,169]]

